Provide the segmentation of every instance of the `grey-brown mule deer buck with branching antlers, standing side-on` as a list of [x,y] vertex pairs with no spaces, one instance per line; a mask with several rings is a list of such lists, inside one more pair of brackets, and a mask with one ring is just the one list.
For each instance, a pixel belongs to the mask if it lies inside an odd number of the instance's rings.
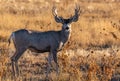
[[68,19],[58,16],[56,7],[52,8],[52,13],[55,21],[57,23],[62,23],[62,29],[60,31],[37,32],[21,29],[12,32],[8,41],[10,44],[12,39],[16,48],[15,54],[11,57],[14,76],[16,74],[19,75],[18,59],[27,49],[37,53],[49,52],[46,76],[48,76],[50,71],[52,58],[56,64],[56,72],[58,73],[57,52],[62,49],[64,44],[68,41],[71,33],[71,23],[78,21],[80,7],[76,6],[75,15]]

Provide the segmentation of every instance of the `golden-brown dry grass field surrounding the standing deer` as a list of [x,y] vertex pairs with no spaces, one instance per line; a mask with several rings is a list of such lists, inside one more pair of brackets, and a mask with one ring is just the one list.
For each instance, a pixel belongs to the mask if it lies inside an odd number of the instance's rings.
[[[14,78],[8,46],[10,34],[18,29],[60,30],[52,15],[68,18],[75,4],[82,10],[72,23],[69,43],[58,53],[60,73],[55,64],[48,81],[120,81],[120,0],[0,0],[0,81],[46,81],[47,53],[26,51],[19,59],[20,76]],[[21,39],[22,40],[22,39]]]

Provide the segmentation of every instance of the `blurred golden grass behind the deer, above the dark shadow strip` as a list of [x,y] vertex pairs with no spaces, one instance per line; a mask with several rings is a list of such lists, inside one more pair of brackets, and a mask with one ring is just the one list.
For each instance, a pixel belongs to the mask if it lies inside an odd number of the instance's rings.
[[76,4],[82,13],[79,21],[72,24],[71,46],[120,45],[119,0],[1,0],[1,40],[7,41],[11,32],[21,28],[59,30],[61,24],[55,22],[52,7],[57,7],[59,16],[69,18]]

